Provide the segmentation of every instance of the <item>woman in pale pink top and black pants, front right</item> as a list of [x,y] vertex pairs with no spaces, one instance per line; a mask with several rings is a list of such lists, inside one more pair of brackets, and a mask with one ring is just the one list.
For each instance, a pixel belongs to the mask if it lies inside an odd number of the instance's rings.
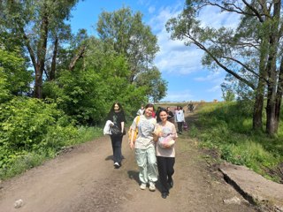
[[167,121],[167,110],[161,109],[158,113],[160,122],[157,123],[157,168],[161,183],[162,197],[169,195],[169,189],[173,186],[172,175],[174,174],[175,163],[175,140],[178,137],[175,125]]

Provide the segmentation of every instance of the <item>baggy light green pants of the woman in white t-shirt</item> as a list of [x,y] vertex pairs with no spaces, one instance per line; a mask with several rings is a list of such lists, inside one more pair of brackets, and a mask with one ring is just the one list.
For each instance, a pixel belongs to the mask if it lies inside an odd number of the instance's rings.
[[142,183],[157,182],[157,156],[156,149],[135,148],[135,160],[140,168],[139,178]]

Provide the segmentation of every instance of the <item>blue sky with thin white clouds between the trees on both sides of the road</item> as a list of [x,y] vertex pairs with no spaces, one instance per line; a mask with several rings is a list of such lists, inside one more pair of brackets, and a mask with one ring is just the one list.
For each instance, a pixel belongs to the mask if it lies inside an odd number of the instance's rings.
[[[165,30],[166,21],[179,14],[184,3],[185,0],[80,1],[72,11],[72,32],[76,34],[80,28],[85,28],[88,34],[96,35],[96,23],[102,11],[117,11],[123,6],[129,6],[134,12],[141,11],[143,22],[157,35],[160,51],[157,53],[155,64],[162,72],[162,78],[168,81],[167,95],[162,101],[222,101],[220,85],[226,72],[207,70],[201,64],[202,50],[170,40],[170,34]],[[233,27],[236,22],[233,15],[211,9],[205,9],[200,19],[203,20],[203,25],[215,27]]]

